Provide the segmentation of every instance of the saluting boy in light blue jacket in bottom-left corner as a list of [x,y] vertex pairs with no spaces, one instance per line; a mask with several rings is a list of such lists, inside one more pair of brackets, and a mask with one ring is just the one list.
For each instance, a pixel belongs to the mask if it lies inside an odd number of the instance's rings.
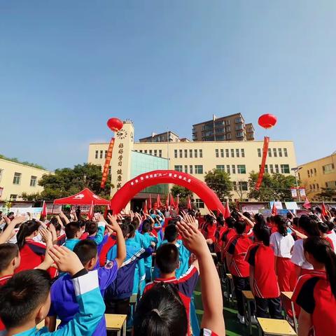
[[79,312],[61,330],[37,330],[50,308],[50,276],[41,269],[22,271],[0,288],[0,318],[8,335],[92,335],[105,310],[97,271],[87,273],[77,255],[64,246],[53,246],[48,254],[59,270],[71,274]]

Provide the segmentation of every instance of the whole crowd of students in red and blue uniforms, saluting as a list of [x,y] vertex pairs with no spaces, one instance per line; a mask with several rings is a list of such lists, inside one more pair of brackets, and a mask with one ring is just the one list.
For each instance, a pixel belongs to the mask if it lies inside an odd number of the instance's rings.
[[[293,291],[299,335],[330,335],[335,217],[335,209],[323,216],[318,208],[300,218],[237,209],[228,218],[169,209],[90,220],[78,211],[48,221],[1,216],[0,335],[106,335],[104,313],[127,314],[132,335],[225,335],[219,267],[232,274],[241,323],[243,290],[255,297],[253,323],[290,314],[280,294]],[[199,277],[200,328],[193,316]]]

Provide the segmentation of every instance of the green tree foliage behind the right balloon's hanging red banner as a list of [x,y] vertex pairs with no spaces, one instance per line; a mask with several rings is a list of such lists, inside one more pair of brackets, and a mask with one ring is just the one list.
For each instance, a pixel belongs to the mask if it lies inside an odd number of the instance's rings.
[[265,201],[293,201],[290,193],[290,187],[295,186],[295,176],[283,174],[268,174],[265,173],[259,190],[255,190],[255,184],[258,180],[258,173],[251,172],[248,179],[250,193],[249,198],[254,198],[260,202]]

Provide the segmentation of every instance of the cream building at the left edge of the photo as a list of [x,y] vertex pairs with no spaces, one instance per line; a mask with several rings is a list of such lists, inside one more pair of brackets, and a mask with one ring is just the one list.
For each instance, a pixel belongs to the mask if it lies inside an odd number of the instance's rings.
[[41,193],[43,187],[38,186],[38,180],[43,174],[50,172],[0,159],[0,200],[22,200],[22,193]]

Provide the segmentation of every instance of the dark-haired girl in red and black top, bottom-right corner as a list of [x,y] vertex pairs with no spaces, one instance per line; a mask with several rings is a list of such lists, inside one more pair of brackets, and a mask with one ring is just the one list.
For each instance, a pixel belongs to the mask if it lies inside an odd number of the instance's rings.
[[[304,255],[314,270],[297,281],[292,300],[300,306],[299,336],[334,335],[336,330],[336,255],[322,237],[308,237]],[[310,334],[312,333],[312,334]]]

